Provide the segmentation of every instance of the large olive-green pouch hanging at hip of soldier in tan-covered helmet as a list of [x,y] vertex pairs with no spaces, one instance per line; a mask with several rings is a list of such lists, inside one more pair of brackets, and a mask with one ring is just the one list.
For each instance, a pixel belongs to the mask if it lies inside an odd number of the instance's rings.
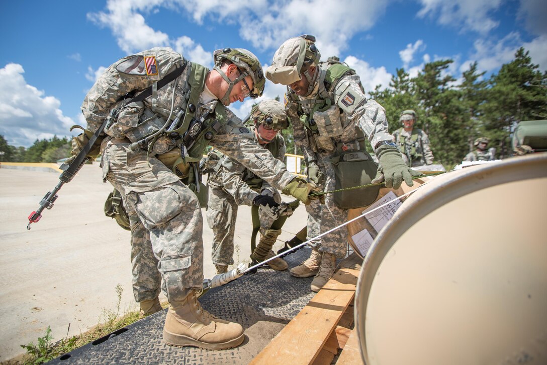
[[[378,165],[364,151],[342,152],[330,158],[336,176],[335,189],[368,185],[376,176]],[[337,191],[334,203],[342,209],[366,207],[378,197],[380,185]]]

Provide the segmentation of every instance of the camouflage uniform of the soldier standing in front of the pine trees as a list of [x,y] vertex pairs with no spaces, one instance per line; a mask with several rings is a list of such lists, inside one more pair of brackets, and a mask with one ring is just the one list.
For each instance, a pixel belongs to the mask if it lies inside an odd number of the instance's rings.
[[404,128],[399,128],[393,132],[393,141],[399,147],[405,162],[412,161],[409,164],[410,167],[433,163],[433,152],[429,147],[429,138],[426,132],[420,128],[412,128],[410,134]]

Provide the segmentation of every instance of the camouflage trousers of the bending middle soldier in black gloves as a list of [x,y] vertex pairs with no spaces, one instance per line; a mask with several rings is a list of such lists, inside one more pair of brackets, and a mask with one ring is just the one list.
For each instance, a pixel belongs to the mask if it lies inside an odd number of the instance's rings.
[[[213,250],[211,258],[215,265],[234,265],[234,234],[237,218],[237,203],[222,187],[209,184],[207,203],[207,223],[213,231]],[[274,199],[281,202],[281,196],[275,192]],[[274,220],[259,209],[260,233],[270,228]],[[249,224],[251,224],[249,222]],[[258,241],[257,241],[258,242]],[[251,244],[245,242],[244,244]]]

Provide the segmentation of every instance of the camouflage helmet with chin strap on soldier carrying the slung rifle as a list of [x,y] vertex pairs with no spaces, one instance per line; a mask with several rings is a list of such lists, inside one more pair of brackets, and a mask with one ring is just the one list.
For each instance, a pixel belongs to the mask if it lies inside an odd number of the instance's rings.
[[[249,75],[253,79],[253,89],[249,90],[249,96],[256,99],[262,95],[264,92],[264,84],[266,83],[266,79],[264,78],[264,71],[262,70],[260,61],[251,51],[243,48],[217,49],[213,52],[213,58],[214,70],[216,70],[229,85],[226,94],[224,94],[222,100],[220,100],[223,104],[225,104],[225,101],[228,100],[234,85]],[[237,69],[240,70],[241,75],[235,80],[230,80],[224,71],[220,70],[220,66],[224,60],[232,62],[232,64],[236,65]]]

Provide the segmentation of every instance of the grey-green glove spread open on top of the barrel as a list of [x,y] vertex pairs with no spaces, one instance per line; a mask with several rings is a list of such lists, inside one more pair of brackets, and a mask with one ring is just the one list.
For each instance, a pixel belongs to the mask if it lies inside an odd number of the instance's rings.
[[382,145],[376,150],[376,156],[380,162],[378,167],[378,173],[373,181],[373,184],[382,183],[386,181],[386,187],[393,187],[393,189],[399,189],[403,180],[406,185],[414,185],[412,176],[420,176],[421,173],[412,170],[406,166],[401,157],[401,152],[397,147]]

